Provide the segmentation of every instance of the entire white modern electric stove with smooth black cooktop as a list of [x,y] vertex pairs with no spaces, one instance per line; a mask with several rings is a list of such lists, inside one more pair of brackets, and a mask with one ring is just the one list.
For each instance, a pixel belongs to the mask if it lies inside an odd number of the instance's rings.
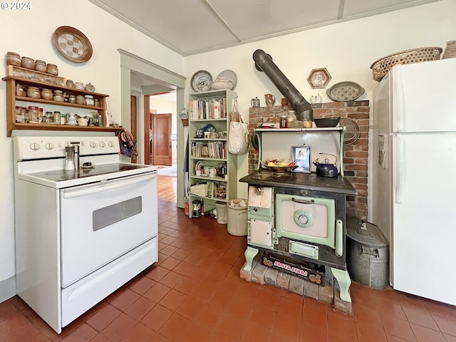
[[[14,137],[16,290],[57,333],[157,261],[157,167],[115,136]],[[66,146],[80,165],[65,170]]]

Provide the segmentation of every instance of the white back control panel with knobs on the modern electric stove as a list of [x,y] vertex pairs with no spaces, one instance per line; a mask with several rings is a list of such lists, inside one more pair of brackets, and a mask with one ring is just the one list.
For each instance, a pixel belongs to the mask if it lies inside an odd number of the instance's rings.
[[107,155],[120,152],[116,136],[27,137],[13,140],[16,161],[65,157],[65,147],[79,145],[80,155]]

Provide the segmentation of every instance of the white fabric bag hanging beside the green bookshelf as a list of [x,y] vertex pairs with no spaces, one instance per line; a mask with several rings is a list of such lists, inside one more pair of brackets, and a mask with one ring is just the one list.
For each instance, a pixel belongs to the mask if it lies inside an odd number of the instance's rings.
[[244,155],[247,153],[249,142],[249,128],[244,116],[237,106],[237,98],[233,99],[231,122],[228,130],[228,152],[233,155]]

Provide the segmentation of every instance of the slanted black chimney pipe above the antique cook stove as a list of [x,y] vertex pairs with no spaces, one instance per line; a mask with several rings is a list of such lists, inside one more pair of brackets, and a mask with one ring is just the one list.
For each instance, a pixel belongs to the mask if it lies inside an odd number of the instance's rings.
[[288,78],[280,71],[276,64],[272,61],[271,56],[263,50],[257,50],[253,55],[255,61],[255,68],[259,71],[264,71],[266,76],[274,83],[274,85],[285,96],[291,106],[296,110],[296,116],[299,118],[301,113],[306,110],[312,110],[311,104],[306,101],[303,95],[294,88],[293,84]]

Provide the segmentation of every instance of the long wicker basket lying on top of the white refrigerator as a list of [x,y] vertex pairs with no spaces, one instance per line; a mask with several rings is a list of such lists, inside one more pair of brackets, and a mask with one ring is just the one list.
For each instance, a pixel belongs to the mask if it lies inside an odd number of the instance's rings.
[[373,79],[381,81],[383,76],[396,64],[412,64],[425,61],[437,61],[440,59],[442,48],[412,48],[385,56],[373,62],[371,65]]

